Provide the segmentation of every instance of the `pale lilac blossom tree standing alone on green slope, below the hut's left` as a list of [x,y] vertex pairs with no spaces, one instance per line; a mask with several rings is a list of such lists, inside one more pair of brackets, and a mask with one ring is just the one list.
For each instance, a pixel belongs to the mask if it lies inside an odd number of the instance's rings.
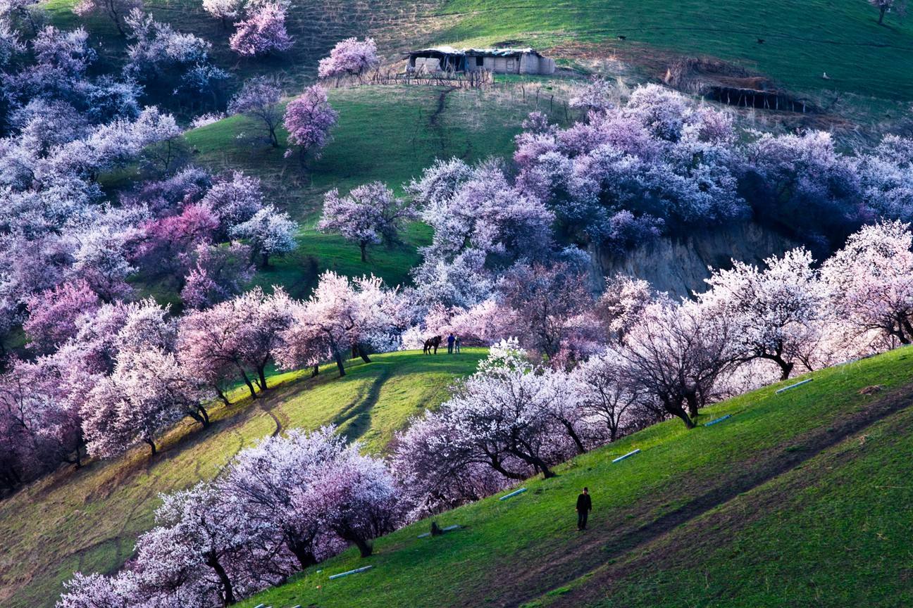
[[382,241],[398,241],[403,223],[417,218],[415,206],[394,196],[380,181],[359,186],[341,197],[338,190],[326,194],[320,232],[339,232],[346,241],[357,242],[362,262],[367,262],[367,246]]

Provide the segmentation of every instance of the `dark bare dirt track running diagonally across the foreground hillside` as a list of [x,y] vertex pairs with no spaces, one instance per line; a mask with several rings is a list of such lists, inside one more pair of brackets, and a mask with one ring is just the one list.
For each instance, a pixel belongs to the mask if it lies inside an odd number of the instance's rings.
[[[753,456],[734,463],[738,472],[715,479],[708,487],[707,479],[681,479],[676,486],[678,496],[691,499],[676,510],[667,512],[656,520],[643,525],[603,527],[593,529],[585,541],[569,542],[552,554],[541,555],[528,569],[496,569],[499,585],[498,606],[519,606],[548,593],[552,589],[573,582],[582,575],[593,572],[607,562],[640,549],[656,541],[669,531],[687,521],[695,520],[709,510],[723,505],[741,493],[756,489],[771,479],[792,471],[828,448],[871,426],[876,421],[909,407],[913,400],[913,386],[899,389],[885,397],[873,400],[853,414],[826,423],[803,436],[792,439]],[[826,427],[826,428],[824,428]],[[649,512],[651,507],[668,500],[667,495],[652,497],[649,504],[641,502],[637,511]],[[619,512],[616,521],[624,521],[627,513]],[[563,605],[574,605],[564,603]],[[578,604],[579,605],[579,604]]]

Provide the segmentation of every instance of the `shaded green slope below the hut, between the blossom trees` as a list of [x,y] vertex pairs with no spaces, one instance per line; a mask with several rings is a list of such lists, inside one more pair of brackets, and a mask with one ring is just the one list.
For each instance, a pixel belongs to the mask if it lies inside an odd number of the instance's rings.
[[[457,157],[467,162],[489,156],[509,157],[513,136],[530,111],[550,111],[548,93],[557,83],[537,83],[537,98],[517,84],[488,90],[424,86],[337,88],[330,91],[340,119],[333,139],[320,160],[302,170],[296,157],[283,158],[281,147],[269,148],[255,137],[262,127],[245,117],[232,117],[189,131],[187,144],[194,162],[213,170],[244,170],[263,180],[268,199],[278,203],[301,223],[299,249],[278,259],[260,273],[257,282],[279,283],[296,297],[308,294],[316,273],[325,269],[347,275],[375,273],[387,283],[404,283],[409,269],[419,262],[416,247],[430,241],[430,231],[416,223],[394,248],[373,247],[369,262],[362,263],[358,247],[337,235],[320,234],[314,225],[320,217],[323,194],[333,188],[347,192],[363,183],[381,180],[403,193],[404,182],[417,177],[438,158]],[[550,91],[551,89],[551,91]],[[551,114],[562,119],[564,108],[551,105]]]

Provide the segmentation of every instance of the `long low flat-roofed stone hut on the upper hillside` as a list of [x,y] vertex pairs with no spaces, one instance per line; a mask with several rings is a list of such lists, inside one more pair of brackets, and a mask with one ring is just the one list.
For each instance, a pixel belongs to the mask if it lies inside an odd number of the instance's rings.
[[495,74],[553,74],[554,59],[531,48],[454,48],[433,46],[409,53],[409,71]]

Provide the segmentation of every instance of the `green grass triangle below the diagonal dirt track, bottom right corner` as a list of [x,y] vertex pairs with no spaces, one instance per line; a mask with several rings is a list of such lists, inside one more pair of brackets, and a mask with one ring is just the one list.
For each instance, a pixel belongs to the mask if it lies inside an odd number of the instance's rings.
[[591,579],[564,605],[913,604],[911,431],[911,409],[873,425],[599,572],[608,593]]

